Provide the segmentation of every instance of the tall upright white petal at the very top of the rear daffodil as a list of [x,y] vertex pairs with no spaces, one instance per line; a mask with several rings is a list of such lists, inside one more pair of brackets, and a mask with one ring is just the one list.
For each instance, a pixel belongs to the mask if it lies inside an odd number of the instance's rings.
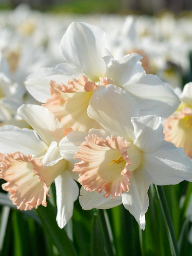
[[106,66],[102,57],[108,52],[102,29],[87,23],[73,22],[61,40],[60,49],[64,59],[89,79],[98,80],[104,76]]

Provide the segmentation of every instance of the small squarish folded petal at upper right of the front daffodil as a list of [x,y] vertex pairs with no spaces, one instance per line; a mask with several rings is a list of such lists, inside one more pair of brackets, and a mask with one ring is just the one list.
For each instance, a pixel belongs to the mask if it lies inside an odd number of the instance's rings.
[[156,151],[164,140],[161,118],[153,115],[132,117],[134,127],[134,144],[145,153]]

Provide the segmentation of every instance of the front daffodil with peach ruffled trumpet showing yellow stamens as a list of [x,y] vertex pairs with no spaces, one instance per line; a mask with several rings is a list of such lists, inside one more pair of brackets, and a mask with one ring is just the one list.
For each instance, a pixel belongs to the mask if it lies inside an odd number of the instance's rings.
[[[91,129],[74,157],[81,160],[73,169],[82,184],[80,204],[89,210],[123,203],[144,229],[150,183],[192,181],[192,162],[182,148],[164,140],[161,118],[139,117],[137,102],[120,87],[100,86],[87,113],[105,130]],[[65,159],[71,159],[72,151],[74,154],[75,139],[71,141],[71,155],[65,148],[75,134],[71,132],[59,144]]]

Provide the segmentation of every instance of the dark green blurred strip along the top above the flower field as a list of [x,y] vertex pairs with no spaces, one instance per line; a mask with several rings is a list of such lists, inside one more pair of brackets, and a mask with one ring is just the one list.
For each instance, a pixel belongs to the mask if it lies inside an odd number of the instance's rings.
[[21,3],[41,11],[67,12],[77,14],[116,13],[148,14],[171,11],[176,15],[192,10],[189,0],[0,0],[1,9],[14,9]]

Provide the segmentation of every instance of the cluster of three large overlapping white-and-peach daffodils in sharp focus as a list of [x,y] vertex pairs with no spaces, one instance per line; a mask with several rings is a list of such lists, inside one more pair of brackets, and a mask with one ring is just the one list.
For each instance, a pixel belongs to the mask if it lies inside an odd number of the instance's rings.
[[30,210],[46,206],[55,181],[60,228],[72,217],[76,181],[83,209],[123,204],[141,229],[151,183],[192,181],[191,160],[164,140],[161,123],[178,107],[174,120],[189,122],[188,107],[181,109],[171,87],[145,73],[141,55],[115,60],[105,44],[102,29],[72,23],[60,43],[64,62],[25,82],[42,105],[22,105],[17,115],[33,129],[0,128],[3,189],[18,209]]

